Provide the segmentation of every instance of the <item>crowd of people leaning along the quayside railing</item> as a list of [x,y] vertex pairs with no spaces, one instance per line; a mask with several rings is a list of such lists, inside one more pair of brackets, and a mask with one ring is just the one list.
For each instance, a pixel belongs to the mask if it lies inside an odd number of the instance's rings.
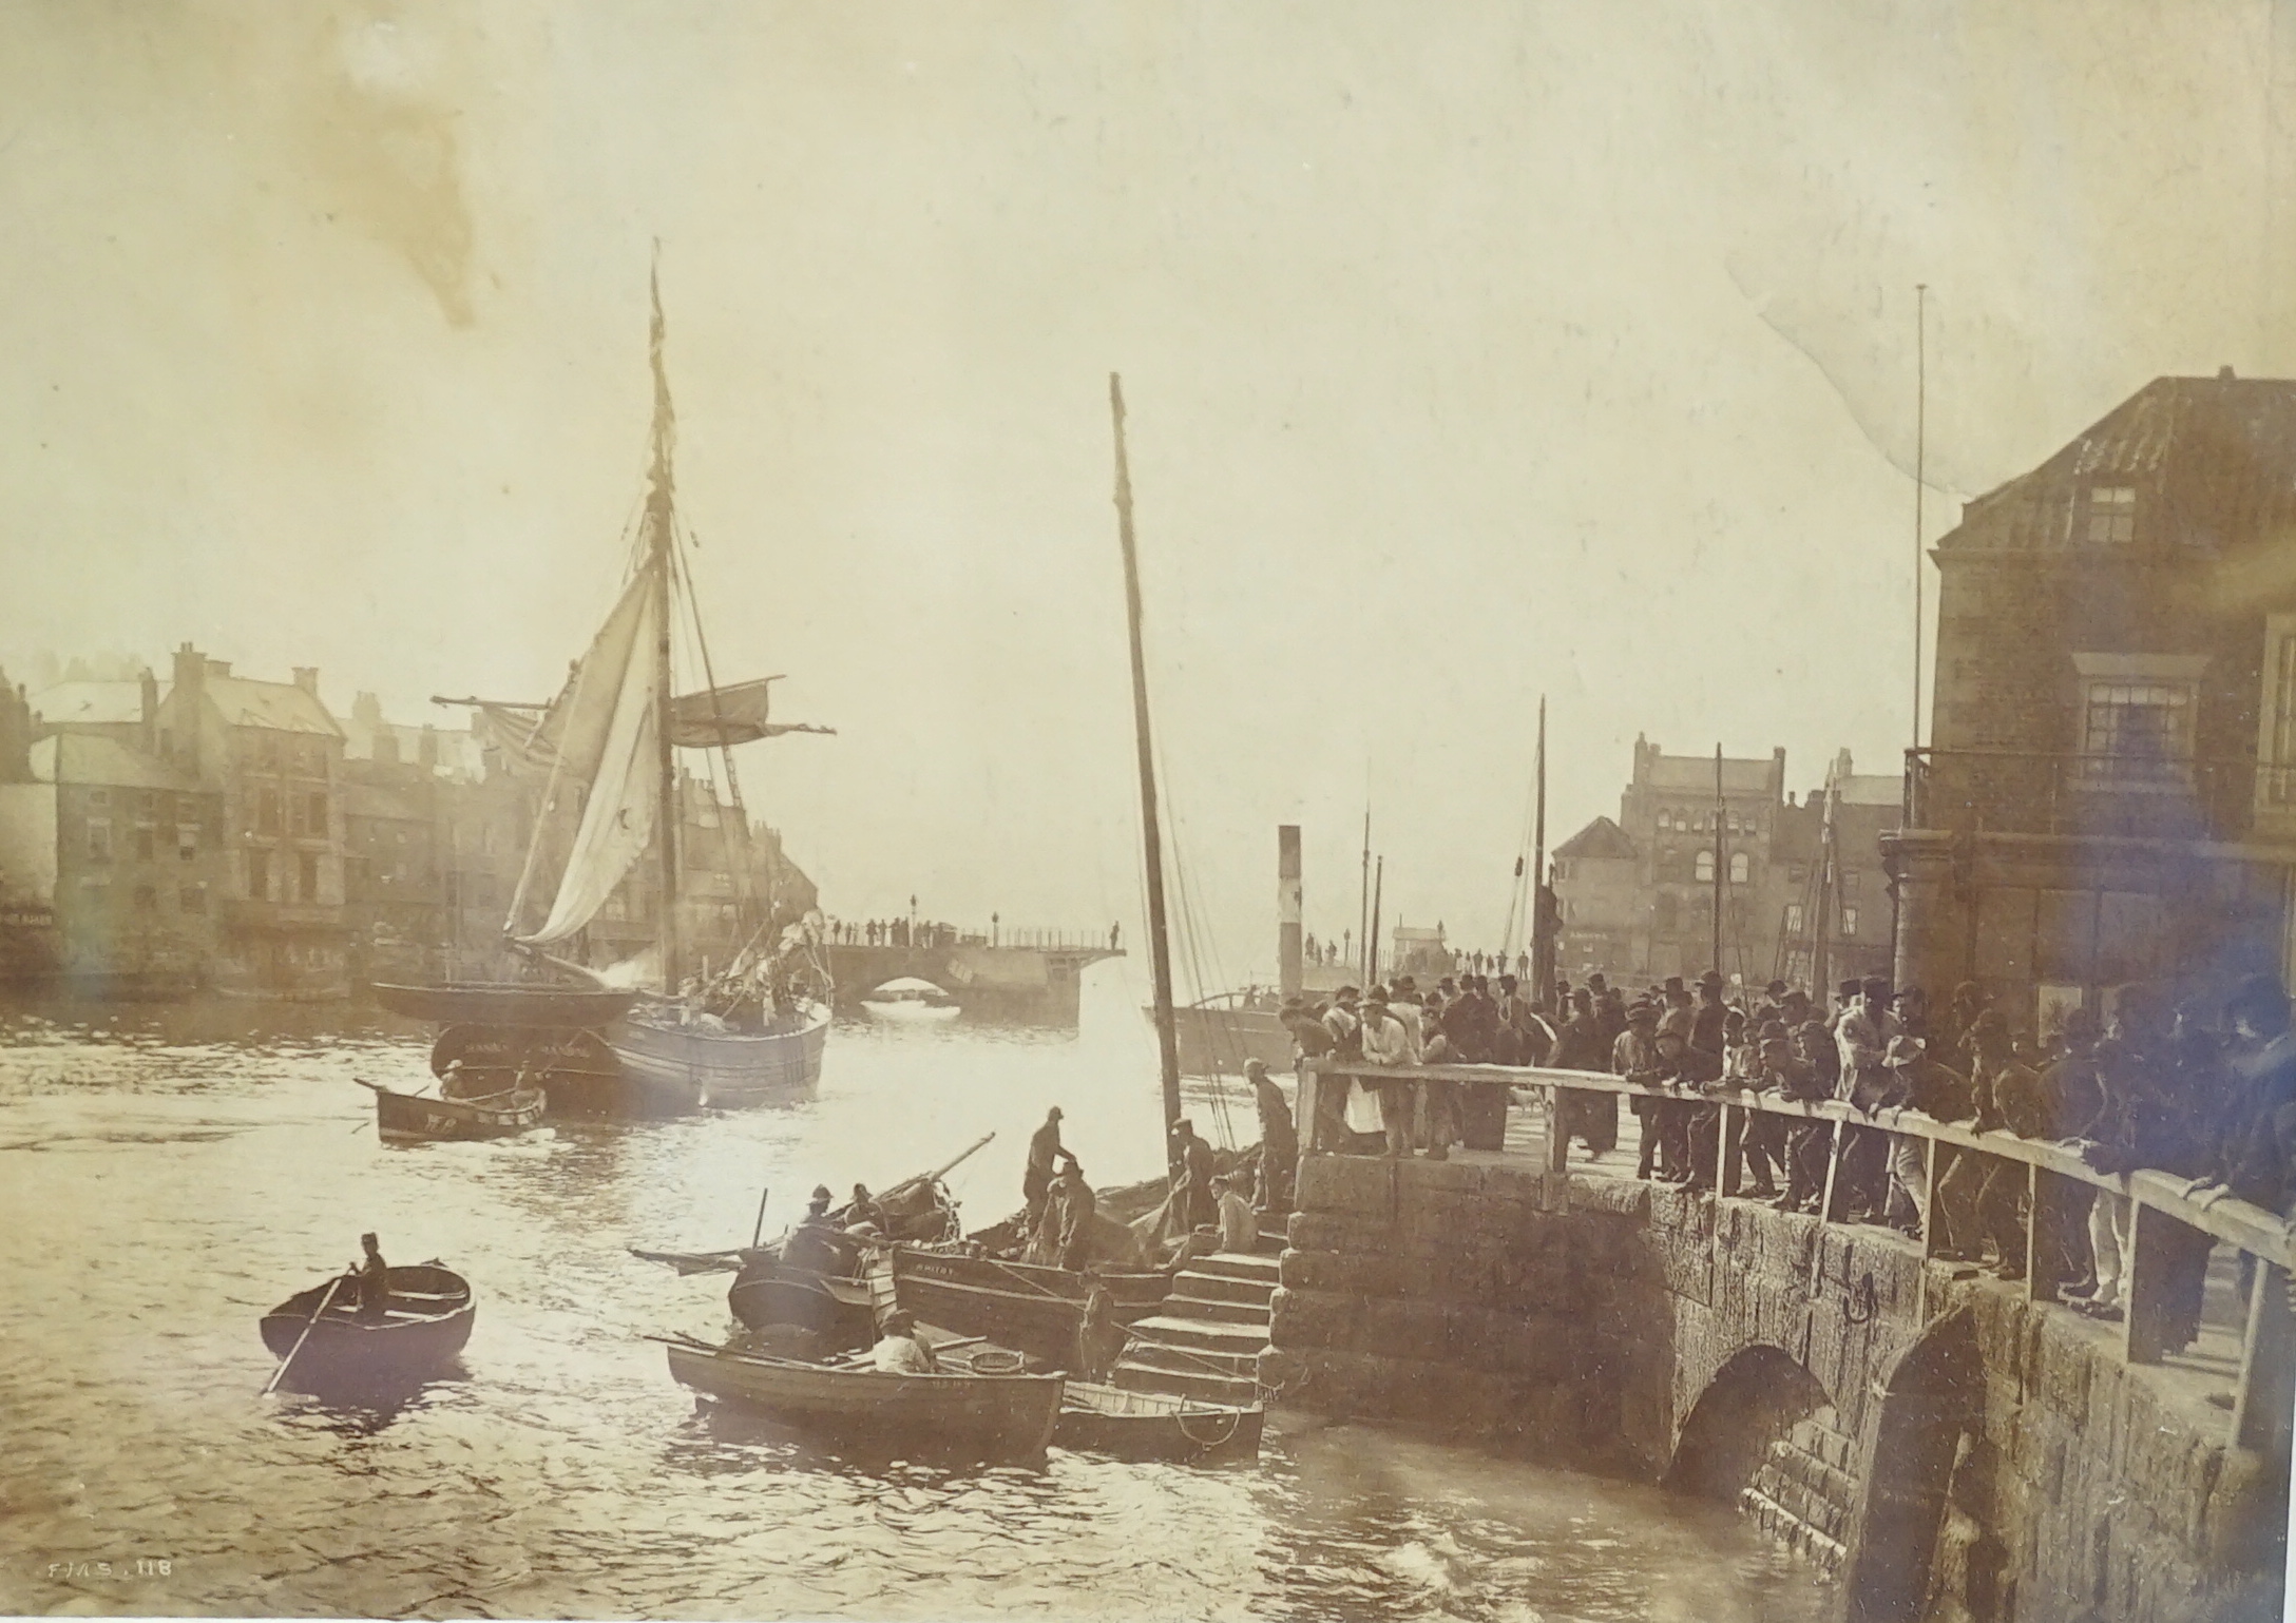
[[[1589,976],[1577,987],[1557,983],[1541,1003],[1511,973],[1495,989],[1472,971],[1444,976],[1428,994],[1412,976],[1396,976],[1368,992],[1341,987],[1329,1001],[1293,999],[1283,1024],[1302,1058],[1545,1065],[1655,1088],[1628,1095],[1642,1123],[1635,1175],[1688,1189],[1724,1182],[1724,1097],[1841,1100],[1867,1120],[1844,1123],[1839,1157],[1830,1120],[1747,1111],[1729,1146],[1736,1191],[1816,1214],[1832,1162],[1832,1221],[1929,1235],[1936,1256],[2002,1279],[2025,1276],[2032,1244],[2062,1281],[2062,1297],[2108,1320],[2126,1309],[2126,1196],[2050,1180],[2034,1212],[2025,1162],[1940,1143],[1931,1166],[1924,1139],[1890,1132],[1878,1113],[2060,1143],[2101,1173],[2174,1175],[2202,1205],[2234,1196],[2296,1217],[2296,1035],[2289,996],[2273,978],[2252,978],[2227,1001],[2126,985],[2105,1019],[2073,1010],[2043,1038],[2011,1026],[1975,983],[1942,1008],[1922,989],[1878,978],[1844,980],[1830,1010],[1782,980],[1759,999],[1731,1001],[1727,992],[1713,971],[1690,985],[1653,983],[1632,999]],[[1561,1132],[1573,1143],[1589,1155],[1616,1148],[1616,1095],[1561,1097]],[[1414,1090],[1412,1081],[1371,1077],[1318,1104],[1325,1146],[1442,1159],[1460,1141],[1504,1141],[1504,1086],[1430,1079]],[[1380,1141],[1366,1143],[1366,1132]],[[2211,1242],[2183,1226],[2177,1235],[2167,1242],[2167,1318],[2190,1338]]]

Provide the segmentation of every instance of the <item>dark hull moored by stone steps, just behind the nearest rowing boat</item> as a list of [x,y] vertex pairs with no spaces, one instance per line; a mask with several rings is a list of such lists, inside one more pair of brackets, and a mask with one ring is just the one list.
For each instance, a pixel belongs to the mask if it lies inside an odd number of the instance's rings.
[[[1171,1292],[1159,1272],[1102,1272],[1116,1320],[1148,1318]],[[1056,1368],[1077,1361],[1077,1329],[1084,1325],[1084,1292],[1091,1279],[1065,1267],[1001,1263],[891,1247],[868,1258],[868,1283],[879,1309],[889,1302],[928,1325],[960,1336],[987,1336],[999,1348],[1026,1352]]]

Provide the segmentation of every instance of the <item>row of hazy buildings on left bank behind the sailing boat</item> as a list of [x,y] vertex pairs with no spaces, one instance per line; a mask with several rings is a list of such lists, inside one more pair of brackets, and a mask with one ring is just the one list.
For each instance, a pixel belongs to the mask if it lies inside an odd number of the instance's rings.
[[[700,955],[813,907],[776,831],[682,781],[680,923]],[[0,983],[342,996],[360,980],[512,973],[503,923],[546,771],[482,730],[413,728],[319,673],[243,677],[188,643],[168,682],[0,680]],[[551,813],[553,817],[572,817]],[[659,934],[641,861],[590,962]]]

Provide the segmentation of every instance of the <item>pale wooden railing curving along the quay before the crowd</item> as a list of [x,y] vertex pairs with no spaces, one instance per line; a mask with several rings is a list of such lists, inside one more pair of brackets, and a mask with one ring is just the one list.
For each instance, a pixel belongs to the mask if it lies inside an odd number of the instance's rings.
[[[1421,1118],[1421,1095],[1428,1084],[1492,1086],[1502,1084],[1511,1097],[1525,1093],[1545,1109],[1545,1168],[1570,1171],[1570,1097],[1612,1093],[1642,1100],[1665,1100],[1683,1106],[1715,1106],[1717,1118],[1708,1132],[1715,1134],[1715,1191],[1722,1198],[1738,1194],[1743,1166],[1740,1146],[1745,1127],[1756,1116],[1784,1116],[1789,1120],[1814,1120],[1825,1125],[1825,1182],[1818,1191],[1818,1219],[1835,1219],[1835,1187],[1841,1178],[1841,1157],[1851,1146],[1853,1127],[1869,1127],[1901,1139],[1922,1141],[1922,1164],[1929,1185],[1929,1221],[1922,1224],[1924,1260],[1938,1251],[1938,1182],[1949,1155],[1977,1155],[1991,1162],[2025,1168],[2025,1201],[2018,1214],[2025,1256],[2023,1290],[2032,1302],[2055,1302],[2057,1288],[2066,1283],[2060,1267],[2060,1237],[2066,1224],[2066,1205],[2073,1187],[2087,1187],[2101,1196],[2128,1201],[2131,1244],[2122,1256],[2122,1357],[2128,1364],[2161,1364],[2167,1352],[2165,1329],[2170,1325],[2170,1290],[2179,1267],[2188,1267],[2188,1251],[2177,1228],[2197,1230],[2213,1242],[2223,1242],[2252,1258],[2245,1327],[2241,1336],[2239,1382],[2232,1405],[2232,1439],[2245,1449],[2266,1449],[2289,1435],[2291,1403],[2296,1403],[2296,1325],[2289,1311],[2289,1265],[2296,1258],[2291,1224],[2248,1201],[2216,1196],[2202,1201],[2188,1194],[2190,1180],[2161,1171],[2101,1173],[2080,1159],[2071,1143],[2020,1139],[2009,1132],[1977,1132],[1958,1123],[1940,1123],[1913,1109],[1860,1111],[1844,1100],[1821,1100],[1802,1104],[1779,1100],[1770,1093],[1665,1088],[1628,1081],[1589,1070],[1545,1070],[1520,1065],[1417,1065],[1382,1067],[1362,1061],[1322,1061],[1300,1067],[1300,1143],[1304,1155],[1332,1152],[1336,1146],[1322,1143],[1325,1088],[1345,1088],[1362,1081],[1371,1088],[1410,1088],[1412,1120]],[[1520,1090],[1520,1093],[1515,1093]],[[1701,1146],[1704,1148],[1704,1146]],[[1589,1173],[1596,1173],[1589,1168]],[[2078,1212],[2073,1214],[2078,1217]]]

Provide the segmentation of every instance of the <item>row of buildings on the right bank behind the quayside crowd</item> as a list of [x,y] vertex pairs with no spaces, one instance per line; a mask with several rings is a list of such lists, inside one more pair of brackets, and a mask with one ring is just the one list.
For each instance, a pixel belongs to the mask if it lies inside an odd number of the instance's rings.
[[[2161,980],[2200,1008],[2296,960],[2296,381],[2147,383],[1970,500],[1938,565],[1929,741],[1828,774],[1832,973],[2027,1028]],[[1823,794],[1637,741],[1554,852],[1557,964],[1809,980]],[[1816,785],[1812,785],[1816,787]],[[1720,847],[1717,847],[1720,822]]]

